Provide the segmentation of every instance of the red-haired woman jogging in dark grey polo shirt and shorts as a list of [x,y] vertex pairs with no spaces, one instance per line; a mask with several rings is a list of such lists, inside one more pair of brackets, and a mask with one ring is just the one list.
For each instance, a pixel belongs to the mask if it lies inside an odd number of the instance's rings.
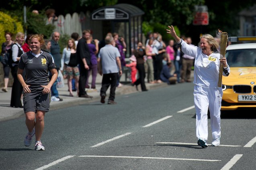
[[[41,50],[41,46],[44,44],[43,35],[32,35],[32,51],[21,55],[17,71],[18,80],[24,91],[24,111],[26,114],[26,125],[29,130],[25,137],[24,144],[25,146],[30,146],[35,134],[35,150],[45,150],[45,147],[41,143],[44,116],[45,112],[49,111],[51,86],[58,75],[51,54]],[[22,76],[24,69],[26,70],[26,80],[24,80]],[[50,70],[52,74],[50,81],[48,70]]]

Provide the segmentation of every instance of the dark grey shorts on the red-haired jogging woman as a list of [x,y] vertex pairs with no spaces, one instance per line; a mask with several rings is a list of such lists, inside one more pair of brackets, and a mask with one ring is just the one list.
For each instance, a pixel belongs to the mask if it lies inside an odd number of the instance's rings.
[[43,94],[43,87],[29,87],[31,93],[24,93],[24,112],[37,112],[37,110],[49,111],[51,93]]

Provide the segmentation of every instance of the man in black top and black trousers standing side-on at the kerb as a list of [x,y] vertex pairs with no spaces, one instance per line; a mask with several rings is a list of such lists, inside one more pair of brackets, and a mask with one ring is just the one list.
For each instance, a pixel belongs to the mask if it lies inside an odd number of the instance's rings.
[[78,41],[76,54],[78,58],[79,70],[80,70],[80,78],[79,78],[79,97],[84,98],[92,98],[85,91],[85,85],[88,77],[88,70],[90,66],[90,51],[86,40],[90,38],[90,30],[84,30],[82,38]]

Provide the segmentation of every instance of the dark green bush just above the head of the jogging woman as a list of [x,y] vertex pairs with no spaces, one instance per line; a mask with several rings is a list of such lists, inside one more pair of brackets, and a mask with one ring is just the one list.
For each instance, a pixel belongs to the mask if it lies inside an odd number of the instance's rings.
[[43,34],[45,38],[50,38],[51,33],[55,29],[52,24],[46,25],[46,16],[43,12],[39,14],[33,14],[32,12],[27,12],[27,33],[28,34]]

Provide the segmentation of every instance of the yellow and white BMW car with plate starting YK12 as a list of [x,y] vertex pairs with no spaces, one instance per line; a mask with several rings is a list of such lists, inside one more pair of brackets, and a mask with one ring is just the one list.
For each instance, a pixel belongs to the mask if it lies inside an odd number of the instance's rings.
[[221,110],[256,108],[256,43],[227,46],[229,76],[222,77]]

